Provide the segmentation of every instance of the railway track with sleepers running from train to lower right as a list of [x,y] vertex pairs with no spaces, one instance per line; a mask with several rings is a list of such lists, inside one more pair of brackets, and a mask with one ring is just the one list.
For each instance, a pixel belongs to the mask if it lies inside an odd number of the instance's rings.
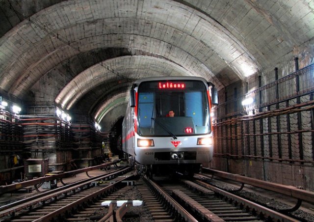
[[197,221],[285,221],[297,222],[284,214],[222,191],[201,181],[158,181],[157,184]]

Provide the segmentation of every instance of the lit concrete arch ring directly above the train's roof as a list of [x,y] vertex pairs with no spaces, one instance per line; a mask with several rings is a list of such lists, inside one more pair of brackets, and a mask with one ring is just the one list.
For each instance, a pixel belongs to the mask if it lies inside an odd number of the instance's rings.
[[[113,67],[115,73],[108,71],[105,66],[98,63],[82,73],[78,74],[70,83],[68,83],[55,99],[55,103],[65,110],[70,110],[72,106],[80,100],[86,93],[102,85],[103,92],[109,88],[114,88],[119,81],[129,81],[130,83],[137,79],[153,76],[197,76],[197,73],[208,73],[208,70],[187,70],[176,63],[165,59],[151,56],[122,56],[109,59],[103,64]],[[205,67],[200,67],[205,68]],[[114,81],[115,80],[115,81]],[[108,84],[106,82],[112,82]],[[217,81],[215,81],[217,82]],[[125,89],[128,90],[129,88]],[[99,98],[101,95],[96,95]],[[95,100],[95,99],[94,99]],[[97,117],[95,117],[97,119]]]

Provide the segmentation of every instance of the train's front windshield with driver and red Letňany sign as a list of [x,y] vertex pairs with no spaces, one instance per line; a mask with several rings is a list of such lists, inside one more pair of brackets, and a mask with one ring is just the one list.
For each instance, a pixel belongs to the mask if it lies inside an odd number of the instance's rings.
[[176,137],[210,133],[209,99],[202,81],[143,82],[137,92],[139,135]]

